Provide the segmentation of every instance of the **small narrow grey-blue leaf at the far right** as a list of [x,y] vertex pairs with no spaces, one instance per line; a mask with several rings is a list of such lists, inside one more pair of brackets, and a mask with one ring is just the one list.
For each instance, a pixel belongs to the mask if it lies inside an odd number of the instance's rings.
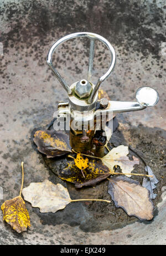
[[155,184],[157,184],[159,181],[157,180],[152,169],[149,166],[146,166],[145,170],[146,172],[148,172],[148,175],[153,175],[153,177],[143,178],[142,186],[147,188],[147,190],[150,191],[151,199],[154,200],[157,194],[154,194],[153,190],[154,188],[156,188]]

